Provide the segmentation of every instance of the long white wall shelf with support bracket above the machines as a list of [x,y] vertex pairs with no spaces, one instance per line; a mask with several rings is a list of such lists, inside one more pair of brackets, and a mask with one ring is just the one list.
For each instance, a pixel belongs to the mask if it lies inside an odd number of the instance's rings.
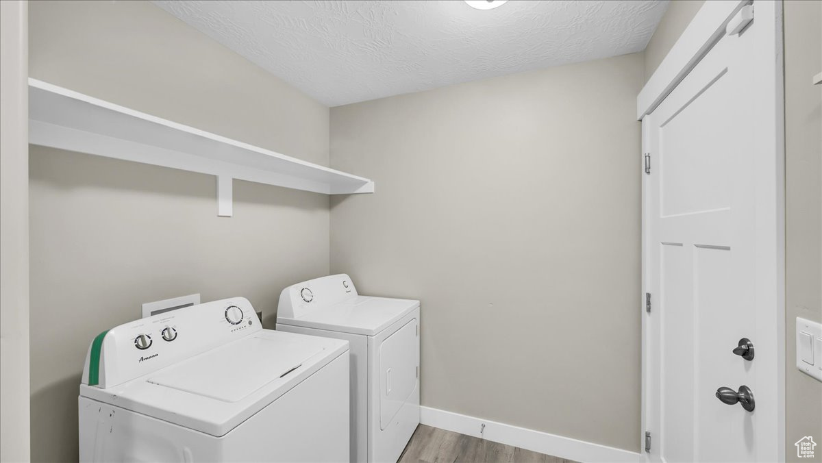
[[232,211],[231,179],[324,194],[374,192],[368,178],[281,155],[29,79],[29,142],[218,178],[218,215]]

